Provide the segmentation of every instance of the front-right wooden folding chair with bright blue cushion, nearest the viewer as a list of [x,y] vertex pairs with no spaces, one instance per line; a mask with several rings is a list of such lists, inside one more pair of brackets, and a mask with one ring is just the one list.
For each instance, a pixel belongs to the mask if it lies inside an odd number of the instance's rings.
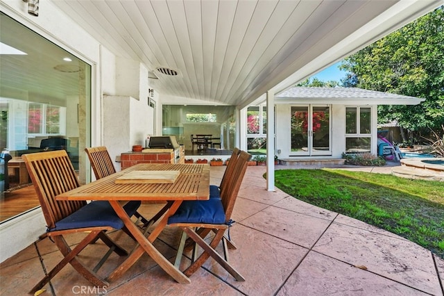
[[[223,239],[224,233],[232,224],[231,215],[234,208],[234,203],[237,199],[239,188],[241,187],[242,179],[248,166],[248,161],[251,155],[245,151],[241,151],[237,162],[232,171],[232,177],[226,188],[221,192],[221,199],[210,198],[207,201],[185,201],[180,204],[178,211],[171,215],[168,219],[170,226],[180,227],[191,240],[203,248],[203,253],[192,262],[191,265],[184,271],[184,274],[190,276],[200,266],[207,261],[210,256],[219,263],[225,270],[227,270],[237,281],[244,281],[244,277],[237,272],[224,258],[222,258],[216,247]],[[231,160],[230,160],[231,161]],[[194,229],[197,228],[200,233]],[[205,236],[202,233],[214,231],[215,235],[210,244],[205,241]],[[181,256],[181,254],[178,254]]]

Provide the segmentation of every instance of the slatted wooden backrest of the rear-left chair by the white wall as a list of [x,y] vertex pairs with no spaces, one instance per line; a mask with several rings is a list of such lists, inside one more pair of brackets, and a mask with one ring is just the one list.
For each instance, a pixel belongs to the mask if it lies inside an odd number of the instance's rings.
[[105,146],[85,148],[96,179],[101,179],[116,172],[111,156]]

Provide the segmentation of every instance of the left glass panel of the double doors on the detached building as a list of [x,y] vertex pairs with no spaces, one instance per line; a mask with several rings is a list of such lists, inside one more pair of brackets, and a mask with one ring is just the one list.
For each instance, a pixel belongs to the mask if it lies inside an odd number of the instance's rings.
[[308,106],[291,107],[291,154],[308,155],[308,131],[309,131]]

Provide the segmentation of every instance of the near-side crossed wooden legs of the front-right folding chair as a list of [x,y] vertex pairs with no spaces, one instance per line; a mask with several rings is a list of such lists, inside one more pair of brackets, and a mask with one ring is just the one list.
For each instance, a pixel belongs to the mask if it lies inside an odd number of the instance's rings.
[[219,242],[223,238],[223,233],[225,232],[225,229],[219,229],[219,231],[216,232],[216,236],[214,236],[212,242],[210,242],[210,245],[203,240],[196,232],[194,232],[189,227],[182,227],[182,229],[187,233],[187,235],[194,240],[200,247],[204,249],[204,252],[197,258],[196,261],[191,263],[189,267],[184,271],[184,274],[188,277],[191,276],[191,274],[194,274],[198,268],[200,268],[205,261],[207,261],[210,256],[214,258],[214,260],[219,263],[225,270],[227,270],[237,281],[245,281],[244,277],[237,272],[227,261],[225,261],[219,253],[217,253],[214,248],[219,245]]

